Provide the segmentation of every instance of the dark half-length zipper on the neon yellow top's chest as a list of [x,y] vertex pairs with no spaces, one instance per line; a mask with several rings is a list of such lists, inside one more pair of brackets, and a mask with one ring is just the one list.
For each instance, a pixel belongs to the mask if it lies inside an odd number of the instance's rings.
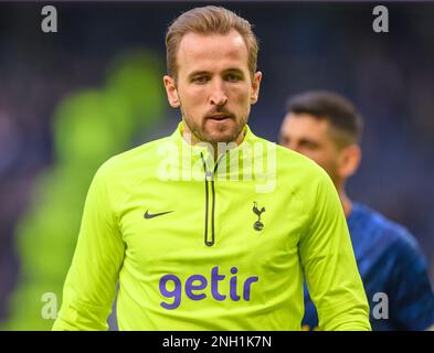
[[[220,161],[222,160],[222,154],[214,165],[213,171],[209,171],[207,168],[207,161],[201,153],[203,170],[205,172],[205,232],[204,232],[204,243],[207,246],[213,246],[215,243],[215,184],[214,176]],[[211,191],[210,191],[211,189]],[[210,216],[210,194],[211,194],[211,216]],[[211,229],[211,232],[210,232]]]

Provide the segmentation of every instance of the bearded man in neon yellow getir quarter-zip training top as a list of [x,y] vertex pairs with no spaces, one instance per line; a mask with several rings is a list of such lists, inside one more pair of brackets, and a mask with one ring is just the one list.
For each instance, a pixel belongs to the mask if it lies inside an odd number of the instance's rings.
[[182,121],[96,173],[54,329],[106,330],[118,281],[120,330],[300,330],[305,275],[326,330],[370,330],[331,181],[246,125],[251,24],[197,8],[166,44]]

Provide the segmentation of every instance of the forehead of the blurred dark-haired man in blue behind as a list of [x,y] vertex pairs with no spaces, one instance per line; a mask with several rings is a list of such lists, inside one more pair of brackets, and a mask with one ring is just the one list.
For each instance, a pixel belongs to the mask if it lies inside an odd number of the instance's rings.
[[329,121],[317,119],[310,114],[286,115],[282,126],[282,133],[294,137],[326,138],[329,132]]

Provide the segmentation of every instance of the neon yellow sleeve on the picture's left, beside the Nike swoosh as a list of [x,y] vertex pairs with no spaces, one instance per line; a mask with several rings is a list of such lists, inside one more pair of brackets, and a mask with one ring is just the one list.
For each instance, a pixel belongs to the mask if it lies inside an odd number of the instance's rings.
[[106,185],[104,167],[91,184],[78,242],[53,330],[107,330],[125,246]]

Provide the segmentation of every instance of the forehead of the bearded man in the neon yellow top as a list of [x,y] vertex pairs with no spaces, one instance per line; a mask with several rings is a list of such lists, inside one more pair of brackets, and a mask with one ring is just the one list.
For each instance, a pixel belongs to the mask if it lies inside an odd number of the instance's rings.
[[246,44],[235,30],[227,34],[190,32],[181,40],[177,64],[179,71],[212,71],[227,65],[247,69],[247,56]]

